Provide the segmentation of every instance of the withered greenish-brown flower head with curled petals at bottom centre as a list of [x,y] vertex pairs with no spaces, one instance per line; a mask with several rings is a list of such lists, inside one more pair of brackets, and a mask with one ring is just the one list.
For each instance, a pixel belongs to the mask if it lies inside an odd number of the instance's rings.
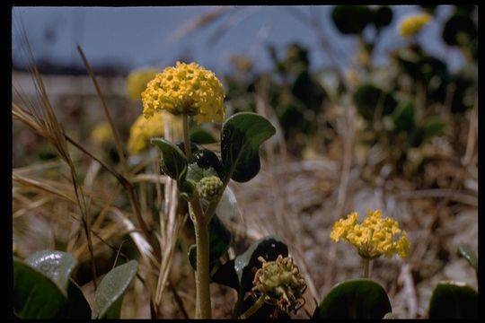
[[289,313],[304,306],[306,283],[293,258],[278,256],[276,261],[266,262],[258,258],[262,267],[254,275],[251,289],[253,297],[264,295],[264,301]]

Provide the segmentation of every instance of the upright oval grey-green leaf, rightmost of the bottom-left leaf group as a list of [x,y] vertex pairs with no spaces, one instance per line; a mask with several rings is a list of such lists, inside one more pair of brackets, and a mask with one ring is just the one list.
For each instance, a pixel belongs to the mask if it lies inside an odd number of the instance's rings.
[[110,270],[94,295],[92,319],[119,319],[121,302],[129,284],[137,275],[136,260]]

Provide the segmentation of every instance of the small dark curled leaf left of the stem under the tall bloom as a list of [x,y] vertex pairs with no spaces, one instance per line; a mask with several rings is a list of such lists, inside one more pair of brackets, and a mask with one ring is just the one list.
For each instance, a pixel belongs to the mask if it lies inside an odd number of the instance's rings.
[[179,183],[183,183],[188,164],[185,154],[177,145],[163,138],[152,138],[151,142],[162,152],[163,172]]

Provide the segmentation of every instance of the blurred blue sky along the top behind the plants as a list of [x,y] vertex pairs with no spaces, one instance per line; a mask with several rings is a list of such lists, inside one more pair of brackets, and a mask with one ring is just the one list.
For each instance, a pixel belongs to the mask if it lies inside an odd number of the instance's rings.
[[[392,25],[384,31],[378,56],[385,63],[385,48],[405,44],[397,33],[401,18],[419,12],[419,6],[392,6]],[[284,49],[299,42],[312,50],[313,66],[331,65],[331,60],[318,48],[314,32],[291,14],[313,13],[319,17],[332,47],[349,58],[355,55],[357,41],[341,36],[331,23],[331,6],[238,6],[226,7],[226,14],[215,23],[176,38],[191,21],[204,13],[217,10],[216,6],[165,6],[165,7],[14,7],[13,57],[19,52],[17,41],[19,20],[27,31],[34,56],[49,57],[69,63],[80,63],[75,49],[81,44],[91,63],[110,60],[125,62],[132,68],[172,65],[178,57],[190,56],[200,65],[215,72],[226,71],[230,57],[250,55],[256,67],[267,69],[270,61],[266,45],[271,43]],[[438,19],[445,19],[449,6],[438,10]],[[461,64],[460,55],[442,43],[440,24],[432,22],[419,35],[424,47],[437,57],[447,60],[452,68]],[[55,39],[49,40],[48,31]],[[217,31],[225,31],[216,34]],[[214,36],[214,35],[218,36]],[[50,33],[52,35],[52,33]],[[216,41],[215,41],[216,40]],[[342,59],[345,65],[348,59]]]

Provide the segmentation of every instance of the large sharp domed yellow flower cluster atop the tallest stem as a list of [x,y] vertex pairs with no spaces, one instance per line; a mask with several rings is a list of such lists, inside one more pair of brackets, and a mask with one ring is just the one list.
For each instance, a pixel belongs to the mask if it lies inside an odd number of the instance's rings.
[[199,124],[222,122],[225,118],[224,90],[216,75],[196,63],[177,62],[156,74],[142,92],[143,114],[151,118],[155,111],[194,116]]

